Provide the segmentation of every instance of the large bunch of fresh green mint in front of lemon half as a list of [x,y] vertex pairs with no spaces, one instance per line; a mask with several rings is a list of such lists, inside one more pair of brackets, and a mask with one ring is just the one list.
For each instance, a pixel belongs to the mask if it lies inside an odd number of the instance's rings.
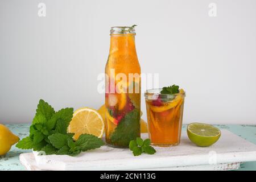
[[104,145],[100,138],[90,134],[80,135],[75,142],[72,138],[74,134],[67,133],[72,117],[73,108],[65,108],[55,112],[51,105],[40,100],[30,126],[29,137],[20,140],[16,147],[44,151],[46,155],[76,156],[82,151]]

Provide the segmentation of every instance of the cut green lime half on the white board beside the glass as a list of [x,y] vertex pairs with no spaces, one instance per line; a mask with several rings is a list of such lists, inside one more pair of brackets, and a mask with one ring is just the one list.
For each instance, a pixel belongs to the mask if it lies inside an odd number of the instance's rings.
[[221,132],[217,127],[204,123],[191,123],[187,127],[188,138],[200,147],[208,147],[217,142]]

